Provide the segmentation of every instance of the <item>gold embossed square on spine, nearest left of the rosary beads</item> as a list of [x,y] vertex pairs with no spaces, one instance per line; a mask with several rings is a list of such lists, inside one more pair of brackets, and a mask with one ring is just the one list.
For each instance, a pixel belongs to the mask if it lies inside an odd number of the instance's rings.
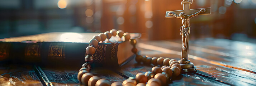
[[51,43],[49,46],[48,57],[50,59],[64,59],[65,58],[65,45],[61,43]]

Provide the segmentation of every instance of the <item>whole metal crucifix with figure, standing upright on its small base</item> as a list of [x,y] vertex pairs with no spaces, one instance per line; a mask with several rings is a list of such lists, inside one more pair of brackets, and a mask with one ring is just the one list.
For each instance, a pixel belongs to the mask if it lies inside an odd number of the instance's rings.
[[193,0],[183,0],[181,1],[183,10],[166,11],[165,14],[166,18],[176,17],[182,20],[182,26],[180,27],[180,35],[182,36],[182,50],[181,59],[179,60],[182,73],[196,71],[196,66],[194,66],[194,64],[188,60],[190,18],[196,15],[211,14],[211,8],[190,9],[190,5],[192,3]]

